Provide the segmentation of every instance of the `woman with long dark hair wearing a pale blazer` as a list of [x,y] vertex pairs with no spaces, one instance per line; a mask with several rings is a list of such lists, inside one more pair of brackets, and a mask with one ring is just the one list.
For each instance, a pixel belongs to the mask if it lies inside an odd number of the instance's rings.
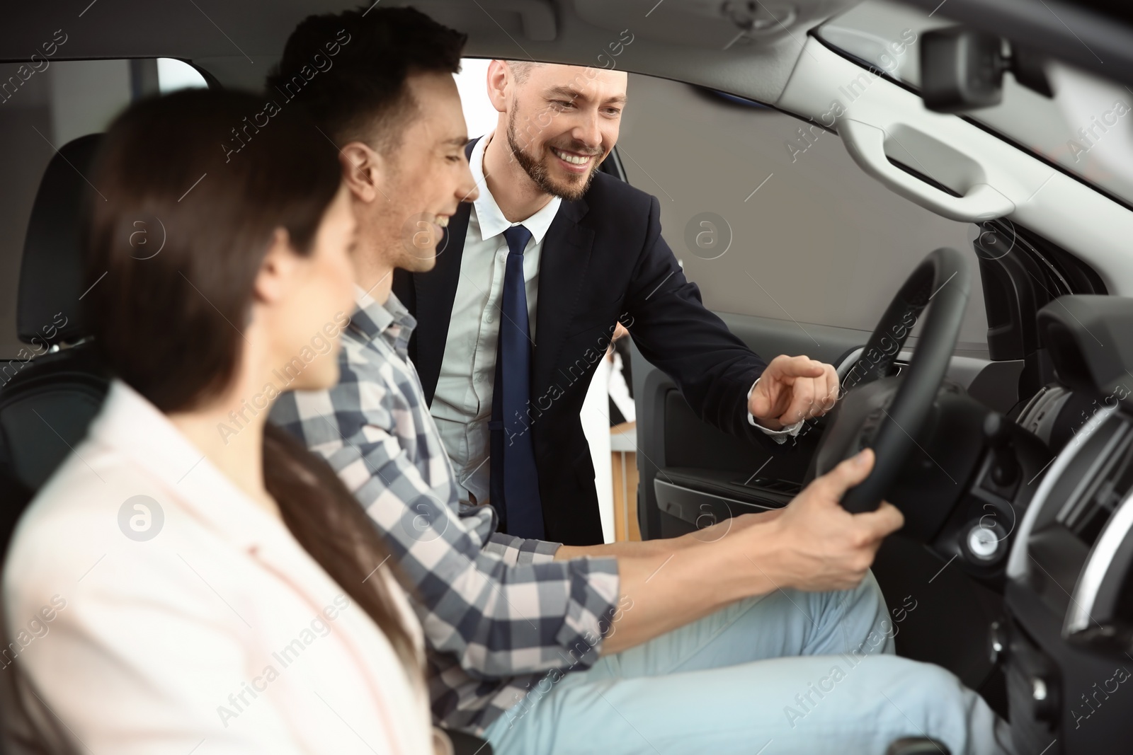
[[334,146],[295,109],[188,91],[120,115],[91,181],[116,379],[12,539],[0,674],[58,750],[432,752],[420,627],[373,525],[265,423],[338,380]]

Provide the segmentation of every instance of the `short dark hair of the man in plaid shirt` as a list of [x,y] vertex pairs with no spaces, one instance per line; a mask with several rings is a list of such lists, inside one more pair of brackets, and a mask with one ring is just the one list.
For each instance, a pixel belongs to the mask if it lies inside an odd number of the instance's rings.
[[455,74],[467,38],[414,8],[308,16],[269,75],[267,94],[282,106],[303,103],[339,146],[357,139],[387,152],[417,113],[407,77]]

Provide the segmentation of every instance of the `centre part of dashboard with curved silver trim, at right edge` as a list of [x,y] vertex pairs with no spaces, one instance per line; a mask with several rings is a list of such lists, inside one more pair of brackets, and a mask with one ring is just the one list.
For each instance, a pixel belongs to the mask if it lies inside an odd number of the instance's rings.
[[1039,314],[1059,383],[1093,401],[1034,481],[991,627],[1020,752],[1114,752],[1133,735],[1133,363],[1119,337],[1131,319],[1133,302],[1116,297],[1064,297]]

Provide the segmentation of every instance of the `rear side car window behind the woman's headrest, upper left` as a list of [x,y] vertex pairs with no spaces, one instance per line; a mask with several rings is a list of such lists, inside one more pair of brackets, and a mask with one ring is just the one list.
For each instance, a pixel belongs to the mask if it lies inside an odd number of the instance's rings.
[[66,35],[25,63],[0,63],[0,359],[16,359],[16,299],[24,237],[48,162],[71,139],[102,131],[133,100],[207,86],[168,58],[51,60]]

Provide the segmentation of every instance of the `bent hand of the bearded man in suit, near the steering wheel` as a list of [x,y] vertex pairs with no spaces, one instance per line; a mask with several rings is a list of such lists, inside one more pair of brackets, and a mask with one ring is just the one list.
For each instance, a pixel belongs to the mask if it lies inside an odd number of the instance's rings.
[[821,417],[838,400],[838,374],[808,357],[781,354],[759,376],[748,411],[768,430]]

